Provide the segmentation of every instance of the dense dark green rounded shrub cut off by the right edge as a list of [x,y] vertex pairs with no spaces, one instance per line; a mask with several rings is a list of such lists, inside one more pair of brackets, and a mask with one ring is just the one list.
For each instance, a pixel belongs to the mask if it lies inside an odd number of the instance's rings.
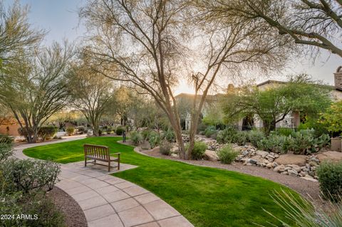
[[341,200],[342,195],[342,162],[322,162],[316,169],[319,187],[331,201]]

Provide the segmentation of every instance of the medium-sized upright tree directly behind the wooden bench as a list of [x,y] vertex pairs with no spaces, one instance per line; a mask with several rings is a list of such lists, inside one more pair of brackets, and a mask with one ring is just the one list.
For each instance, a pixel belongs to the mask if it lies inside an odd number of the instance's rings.
[[99,75],[86,61],[74,64],[68,75],[72,105],[88,120],[95,136],[99,135],[101,117],[113,98],[113,81]]

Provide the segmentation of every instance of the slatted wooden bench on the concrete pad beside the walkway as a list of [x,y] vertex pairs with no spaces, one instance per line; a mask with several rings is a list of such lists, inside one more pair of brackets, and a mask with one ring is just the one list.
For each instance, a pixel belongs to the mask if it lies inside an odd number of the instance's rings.
[[[108,162],[108,171],[110,171],[110,162],[118,162],[118,170],[120,170],[120,153],[114,153],[118,157],[110,157],[109,148],[105,146],[84,144],[84,166],[87,163],[98,164],[100,166],[107,167],[105,164],[96,163],[96,160],[101,162]],[[87,162],[88,159],[93,159],[93,162]]]

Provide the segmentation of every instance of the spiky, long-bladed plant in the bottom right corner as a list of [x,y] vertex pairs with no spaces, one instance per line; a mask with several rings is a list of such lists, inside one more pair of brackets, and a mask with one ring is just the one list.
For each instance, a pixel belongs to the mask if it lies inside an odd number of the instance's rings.
[[[286,220],[278,218],[270,211],[266,211],[284,227],[339,227],[342,226],[341,204],[329,203],[330,211],[323,211],[311,204],[311,201],[301,196],[295,196],[284,190],[274,191],[271,198],[278,204],[286,214]],[[257,226],[261,226],[255,223]],[[269,223],[269,226],[276,226]]]

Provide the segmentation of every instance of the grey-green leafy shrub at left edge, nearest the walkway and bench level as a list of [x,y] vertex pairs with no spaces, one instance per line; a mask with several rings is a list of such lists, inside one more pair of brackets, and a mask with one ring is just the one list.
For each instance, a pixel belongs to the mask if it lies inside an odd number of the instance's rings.
[[8,159],[1,164],[1,173],[8,191],[50,191],[58,181],[60,172],[59,164],[51,161]]

